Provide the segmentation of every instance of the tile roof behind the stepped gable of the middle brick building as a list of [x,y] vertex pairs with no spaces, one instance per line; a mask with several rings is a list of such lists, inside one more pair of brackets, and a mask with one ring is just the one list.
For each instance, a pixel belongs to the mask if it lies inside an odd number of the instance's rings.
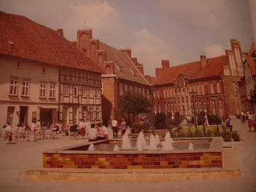
[[[127,79],[129,81],[134,81],[137,83],[147,84],[149,83],[140,74],[138,68],[132,63],[131,59],[125,52],[119,51],[114,47],[111,47],[103,42],[99,43],[100,50],[107,51],[107,61],[113,61],[115,63],[115,75]],[[119,70],[119,68],[121,70]],[[135,75],[134,75],[135,74]]]

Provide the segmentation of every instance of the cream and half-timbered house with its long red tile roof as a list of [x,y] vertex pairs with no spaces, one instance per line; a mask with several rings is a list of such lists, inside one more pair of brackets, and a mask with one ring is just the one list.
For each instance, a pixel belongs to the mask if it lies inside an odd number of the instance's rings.
[[0,124],[101,121],[102,70],[62,29],[0,12],[0,30]]

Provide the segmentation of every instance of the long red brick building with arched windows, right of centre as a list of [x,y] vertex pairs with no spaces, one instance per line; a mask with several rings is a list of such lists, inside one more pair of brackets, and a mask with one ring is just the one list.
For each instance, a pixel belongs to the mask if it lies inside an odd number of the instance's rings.
[[162,60],[162,68],[156,68],[157,79],[152,84],[155,113],[168,115],[179,111],[181,115],[193,115],[194,107],[196,113],[239,113],[237,80],[243,76],[246,53],[237,40],[230,40],[230,44],[231,49],[216,58],[200,56],[199,61],[174,67]]

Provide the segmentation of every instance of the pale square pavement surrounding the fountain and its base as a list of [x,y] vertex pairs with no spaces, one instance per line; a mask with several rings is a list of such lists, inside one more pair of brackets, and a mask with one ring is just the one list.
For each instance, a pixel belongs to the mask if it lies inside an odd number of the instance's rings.
[[18,142],[13,145],[0,143],[0,191],[196,191],[196,192],[256,192],[256,132],[248,132],[247,124],[232,120],[243,142],[230,143],[236,147],[241,167],[241,179],[212,179],[202,181],[147,182],[147,183],[95,183],[74,182],[20,182],[19,169],[42,167],[42,151],[65,145],[84,143],[67,138],[35,143]]

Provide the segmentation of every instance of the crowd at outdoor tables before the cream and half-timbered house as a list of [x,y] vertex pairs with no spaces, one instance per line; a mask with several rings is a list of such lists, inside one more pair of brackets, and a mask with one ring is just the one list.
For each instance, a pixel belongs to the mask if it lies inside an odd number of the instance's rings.
[[[108,125],[107,125],[108,127]],[[40,120],[36,120],[29,127],[28,125],[11,126],[10,123],[6,123],[1,129],[1,136],[4,140],[8,140],[8,144],[15,138],[16,140],[29,140],[29,134],[35,135],[35,140],[44,140],[45,138],[56,138],[56,136],[81,136],[81,138],[88,139],[88,141],[98,141],[108,139],[108,129],[106,125],[101,122],[97,124],[90,124],[90,120],[79,120],[79,124],[72,123],[60,124],[56,122],[48,125]],[[127,130],[127,123],[123,119],[118,126],[116,119],[111,122],[111,129],[113,130],[113,138],[118,138],[118,132],[121,131],[121,136],[125,134]]]

